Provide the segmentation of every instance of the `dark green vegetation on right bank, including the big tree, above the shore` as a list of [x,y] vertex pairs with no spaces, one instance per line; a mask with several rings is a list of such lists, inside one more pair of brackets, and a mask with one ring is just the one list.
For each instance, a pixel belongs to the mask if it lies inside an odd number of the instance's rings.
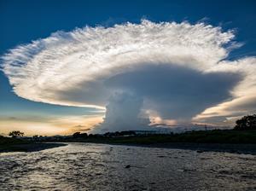
[[[70,141],[70,140],[69,140]],[[169,135],[136,135],[133,131],[83,135],[75,133],[73,141],[155,144],[168,142],[191,143],[256,143],[256,114],[244,116],[236,121],[234,130],[197,130]]]

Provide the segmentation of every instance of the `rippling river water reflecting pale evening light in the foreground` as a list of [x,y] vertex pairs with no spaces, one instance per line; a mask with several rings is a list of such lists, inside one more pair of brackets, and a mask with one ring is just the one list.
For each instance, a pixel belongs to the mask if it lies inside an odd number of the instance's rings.
[[70,143],[0,155],[0,190],[256,190],[255,180],[250,154]]

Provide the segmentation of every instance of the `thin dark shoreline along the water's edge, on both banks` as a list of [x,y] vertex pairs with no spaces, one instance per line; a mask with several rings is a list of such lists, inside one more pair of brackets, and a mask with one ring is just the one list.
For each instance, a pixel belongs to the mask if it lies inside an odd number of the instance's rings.
[[0,145],[0,153],[9,152],[37,152],[49,148],[59,148],[67,146],[69,143],[92,143],[107,144],[116,146],[141,147],[141,148],[170,148],[193,150],[197,153],[221,152],[221,153],[241,153],[256,155],[256,144],[239,143],[194,143],[194,142],[165,142],[165,143],[118,143],[118,142],[32,142],[12,145]]

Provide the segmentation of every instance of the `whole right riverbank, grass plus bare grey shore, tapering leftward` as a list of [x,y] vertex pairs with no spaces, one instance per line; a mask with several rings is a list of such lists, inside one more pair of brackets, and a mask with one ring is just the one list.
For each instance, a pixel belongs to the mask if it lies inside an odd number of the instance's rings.
[[256,130],[201,130],[173,135],[88,136],[68,142],[91,142],[149,148],[189,149],[202,152],[249,153],[256,155]]

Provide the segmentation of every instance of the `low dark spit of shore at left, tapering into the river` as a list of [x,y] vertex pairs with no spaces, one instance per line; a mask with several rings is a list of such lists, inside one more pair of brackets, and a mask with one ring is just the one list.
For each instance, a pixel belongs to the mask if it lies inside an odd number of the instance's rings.
[[36,152],[49,148],[59,148],[67,146],[65,143],[55,142],[32,142],[32,143],[21,143],[11,145],[0,145],[0,153],[9,152]]

